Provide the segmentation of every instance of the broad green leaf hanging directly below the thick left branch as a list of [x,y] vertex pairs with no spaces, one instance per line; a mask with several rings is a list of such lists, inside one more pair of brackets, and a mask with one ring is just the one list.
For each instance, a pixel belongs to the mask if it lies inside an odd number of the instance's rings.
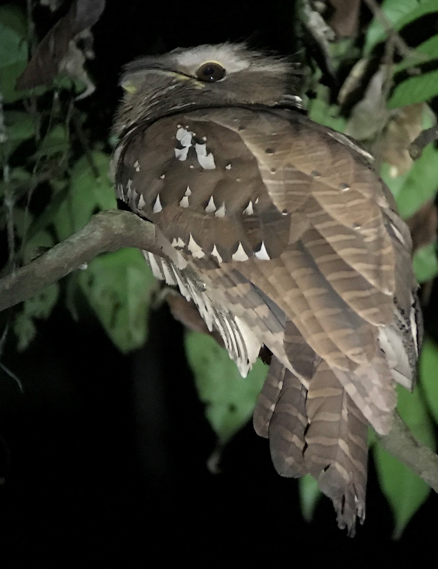
[[139,249],[119,249],[93,259],[78,281],[120,351],[129,352],[144,344],[156,279]]

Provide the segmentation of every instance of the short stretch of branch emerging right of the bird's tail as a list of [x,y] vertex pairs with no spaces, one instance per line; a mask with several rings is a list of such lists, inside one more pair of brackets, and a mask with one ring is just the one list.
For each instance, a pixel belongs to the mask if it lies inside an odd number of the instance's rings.
[[397,413],[394,413],[393,427],[379,440],[385,450],[438,493],[438,456],[412,435]]

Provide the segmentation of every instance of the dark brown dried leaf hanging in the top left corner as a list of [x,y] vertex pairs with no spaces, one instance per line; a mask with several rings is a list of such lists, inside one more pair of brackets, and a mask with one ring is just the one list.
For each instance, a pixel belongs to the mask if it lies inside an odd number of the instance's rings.
[[68,13],[41,40],[32,59],[16,82],[16,89],[48,85],[57,75],[69,42],[93,26],[105,8],[106,0],[74,0]]

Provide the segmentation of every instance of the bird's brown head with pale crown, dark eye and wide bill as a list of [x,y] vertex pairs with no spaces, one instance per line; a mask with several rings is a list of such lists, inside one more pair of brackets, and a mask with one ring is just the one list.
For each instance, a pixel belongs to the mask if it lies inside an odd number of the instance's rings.
[[118,133],[132,125],[186,109],[280,104],[299,106],[303,71],[285,57],[245,44],[178,48],[142,57],[124,68],[125,96]]

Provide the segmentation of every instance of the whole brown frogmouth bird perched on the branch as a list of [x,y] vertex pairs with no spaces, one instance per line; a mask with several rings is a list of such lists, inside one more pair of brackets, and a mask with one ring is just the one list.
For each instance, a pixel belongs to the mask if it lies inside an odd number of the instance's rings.
[[310,473],[340,527],[365,518],[367,426],[390,430],[421,326],[411,237],[354,141],[312,122],[301,71],[225,43],[127,65],[118,197],[155,224],[156,277],[193,300],[246,376],[282,476]]

